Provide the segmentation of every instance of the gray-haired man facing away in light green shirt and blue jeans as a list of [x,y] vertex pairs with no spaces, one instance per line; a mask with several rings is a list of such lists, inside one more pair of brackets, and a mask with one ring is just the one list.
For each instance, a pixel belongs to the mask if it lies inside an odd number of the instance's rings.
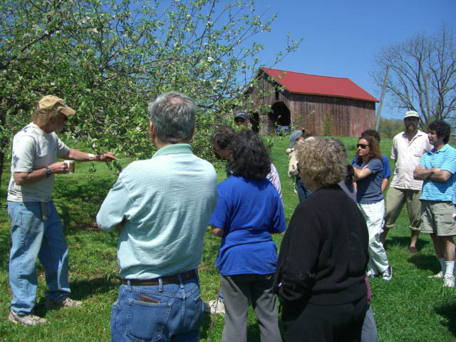
[[97,214],[100,229],[120,232],[122,285],[111,341],[197,341],[204,315],[197,266],[217,204],[217,174],[189,145],[191,98],[165,93],[149,111],[157,152],[123,170]]

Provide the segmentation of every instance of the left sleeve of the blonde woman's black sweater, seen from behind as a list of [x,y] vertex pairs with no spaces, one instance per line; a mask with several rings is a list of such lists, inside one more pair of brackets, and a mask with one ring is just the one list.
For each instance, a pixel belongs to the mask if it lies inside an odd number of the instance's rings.
[[315,284],[321,222],[306,207],[296,210],[281,244],[276,291],[282,304],[309,299]]

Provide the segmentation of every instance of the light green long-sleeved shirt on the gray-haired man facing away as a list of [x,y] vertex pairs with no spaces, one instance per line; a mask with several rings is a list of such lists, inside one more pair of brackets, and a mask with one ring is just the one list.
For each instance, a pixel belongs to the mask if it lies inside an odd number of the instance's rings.
[[217,174],[187,144],[167,145],[132,162],[108,193],[97,223],[118,242],[120,276],[150,279],[196,269],[217,204]]

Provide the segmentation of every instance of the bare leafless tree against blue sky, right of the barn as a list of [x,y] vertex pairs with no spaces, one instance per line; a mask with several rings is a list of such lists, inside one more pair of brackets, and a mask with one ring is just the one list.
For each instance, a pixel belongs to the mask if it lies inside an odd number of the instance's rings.
[[386,91],[397,108],[416,110],[427,126],[435,119],[455,122],[455,32],[442,24],[436,33],[418,33],[405,41],[384,46],[375,58],[375,83],[382,86],[387,66]]

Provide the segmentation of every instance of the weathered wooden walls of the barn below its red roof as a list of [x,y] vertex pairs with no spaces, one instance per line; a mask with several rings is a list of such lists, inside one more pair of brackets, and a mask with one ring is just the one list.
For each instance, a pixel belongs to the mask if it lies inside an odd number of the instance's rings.
[[283,103],[290,111],[288,125],[305,128],[312,135],[324,135],[325,121],[332,122],[331,135],[336,136],[356,137],[361,135],[363,130],[374,128],[375,102],[276,90],[278,84],[271,82],[269,76],[261,71],[257,75],[257,82],[260,90],[246,95],[252,98],[253,105],[249,112],[255,118],[258,115],[261,135],[274,132],[277,126],[277,115],[261,112],[261,105],[274,108],[274,104],[278,103]]

